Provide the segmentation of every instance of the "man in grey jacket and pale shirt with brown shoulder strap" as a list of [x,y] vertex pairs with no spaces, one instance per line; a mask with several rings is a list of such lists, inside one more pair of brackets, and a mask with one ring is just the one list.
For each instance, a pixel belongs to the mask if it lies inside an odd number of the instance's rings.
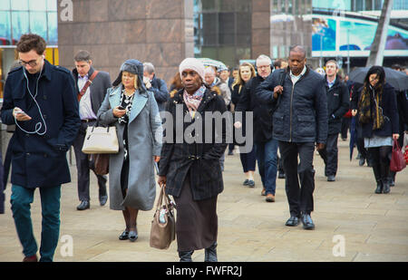
[[[79,100],[79,112],[81,127],[73,142],[75,152],[76,170],[78,178],[78,198],[81,201],[77,210],[89,209],[90,195],[90,169],[95,173],[93,162],[89,160],[87,154],[83,153],[83,141],[85,140],[86,129],[96,123],[96,114],[101,107],[107,90],[112,86],[109,73],[96,71],[92,66],[91,53],[79,51],[73,57],[75,69],[73,69],[73,79],[75,90]],[[99,202],[101,206],[106,204],[108,194],[106,191],[106,175],[96,174],[99,187]]]

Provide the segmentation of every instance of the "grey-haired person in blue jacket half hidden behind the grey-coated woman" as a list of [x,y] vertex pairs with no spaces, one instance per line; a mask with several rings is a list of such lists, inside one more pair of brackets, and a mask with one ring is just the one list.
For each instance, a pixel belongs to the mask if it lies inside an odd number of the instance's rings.
[[170,96],[166,82],[156,77],[154,66],[151,63],[143,63],[143,77],[146,89],[154,93],[159,111],[163,111]]

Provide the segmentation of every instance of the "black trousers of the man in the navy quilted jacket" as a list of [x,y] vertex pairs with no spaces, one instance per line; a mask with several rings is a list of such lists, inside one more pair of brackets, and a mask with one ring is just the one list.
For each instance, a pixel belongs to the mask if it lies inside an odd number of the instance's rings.
[[[287,178],[285,189],[292,216],[313,211],[315,169],[313,169],[314,142],[294,143],[279,141],[279,150]],[[300,162],[297,162],[299,156]]]

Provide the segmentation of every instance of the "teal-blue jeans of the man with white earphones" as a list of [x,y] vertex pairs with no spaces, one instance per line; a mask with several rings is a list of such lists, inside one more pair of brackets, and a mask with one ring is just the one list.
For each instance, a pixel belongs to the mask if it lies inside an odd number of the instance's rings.
[[[17,235],[23,246],[24,256],[36,254],[38,246],[35,242],[31,220],[31,203],[34,201],[34,188],[12,186],[11,205]],[[40,262],[52,262],[53,254],[60,235],[60,199],[61,186],[40,188],[41,208],[43,215]]]

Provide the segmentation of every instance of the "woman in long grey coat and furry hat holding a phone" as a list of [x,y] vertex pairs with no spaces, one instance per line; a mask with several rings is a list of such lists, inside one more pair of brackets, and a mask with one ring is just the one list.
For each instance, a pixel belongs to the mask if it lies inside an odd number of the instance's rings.
[[126,223],[121,240],[138,238],[138,212],[151,210],[156,197],[153,159],[160,160],[162,128],[153,93],[142,81],[143,64],[127,60],[98,111],[100,123],[114,125],[118,134],[119,153],[109,160],[109,192],[110,208],[121,210]]

